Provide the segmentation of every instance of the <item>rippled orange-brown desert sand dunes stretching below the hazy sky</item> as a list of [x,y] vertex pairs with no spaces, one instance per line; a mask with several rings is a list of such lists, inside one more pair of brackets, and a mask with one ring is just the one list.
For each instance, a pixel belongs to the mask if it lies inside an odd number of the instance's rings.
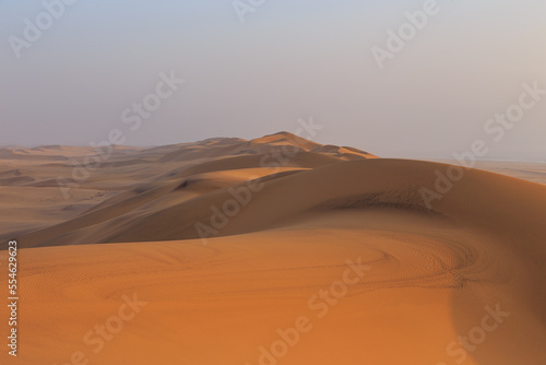
[[[45,150],[0,151],[2,364],[546,363],[544,185],[466,169],[428,209],[449,165],[277,133],[117,146],[64,199],[90,151]],[[95,353],[123,295],[147,304]]]

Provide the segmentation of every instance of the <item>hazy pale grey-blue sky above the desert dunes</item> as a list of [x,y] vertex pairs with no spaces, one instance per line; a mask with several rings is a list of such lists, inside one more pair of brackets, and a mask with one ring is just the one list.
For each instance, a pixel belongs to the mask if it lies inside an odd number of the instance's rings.
[[[488,158],[546,160],[546,96],[498,142],[484,131],[523,83],[546,90],[546,2],[438,0],[380,70],[371,47],[425,2],[265,0],[241,23],[232,0],[80,0],[48,27],[41,1],[0,0],[0,144],[81,145],[116,128],[133,145],[249,139],[312,116],[316,141],[381,156],[483,139]],[[28,42],[20,58],[14,37]],[[171,71],[186,83],[132,131],[122,113]]]

